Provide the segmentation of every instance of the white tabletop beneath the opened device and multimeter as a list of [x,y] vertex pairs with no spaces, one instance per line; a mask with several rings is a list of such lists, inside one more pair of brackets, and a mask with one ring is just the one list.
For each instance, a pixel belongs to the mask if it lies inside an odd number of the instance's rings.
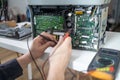
[[[120,42],[120,33],[107,32],[106,44],[103,47],[120,50],[119,42]],[[32,39],[29,40],[30,45],[31,43],[32,43]],[[0,47],[12,51],[16,51],[22,54],[28,52],[27,40],[19,41],[15,39],[0,37]],[[52,48],[48,48],[45,51],[45,53],[48,55],[48,53],[51,52],[51,49]],[[96,52],[92,52],[92,51],[73,50],[69,67],[77,71],[85,71],[87,70],[89,63],[92,61],[95,54]],[[46,57],[46,55],[44,55],[44,57]],[[120,75],[120,70],[118,75]],[[117,76],[115,80],[120,80],[120,76]]]

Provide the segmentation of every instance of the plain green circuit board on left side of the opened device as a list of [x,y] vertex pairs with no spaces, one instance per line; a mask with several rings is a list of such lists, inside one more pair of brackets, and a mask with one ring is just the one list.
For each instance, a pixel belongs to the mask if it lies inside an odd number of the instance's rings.
[[53,28],[54,30],[63,30],[64,19],[61,16],[36,15],[34,21],[37,33]]

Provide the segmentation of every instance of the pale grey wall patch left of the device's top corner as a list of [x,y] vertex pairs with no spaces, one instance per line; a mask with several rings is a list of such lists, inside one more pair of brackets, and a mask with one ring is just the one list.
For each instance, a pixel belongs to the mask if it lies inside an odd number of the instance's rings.
[[27,0],[8,0],[8,6],[14,12],[26,14]]

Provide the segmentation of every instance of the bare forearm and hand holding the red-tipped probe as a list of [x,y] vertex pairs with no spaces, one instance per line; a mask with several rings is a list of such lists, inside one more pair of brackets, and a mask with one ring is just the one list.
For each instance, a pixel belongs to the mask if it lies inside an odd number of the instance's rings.
[[49,59],[50,67],[47,80],[64,80],[65,69],[71,57],[71,38],[61,39],[55,46]]

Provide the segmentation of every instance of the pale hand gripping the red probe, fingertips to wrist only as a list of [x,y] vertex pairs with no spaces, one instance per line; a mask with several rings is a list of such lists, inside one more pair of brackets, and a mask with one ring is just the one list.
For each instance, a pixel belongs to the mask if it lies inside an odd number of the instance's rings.
[[52,68],[54,71],[65,72],[71,57],[71,52],[71,38],[67,37],[65,40],[61,38],[58,44],[54,47],[50,56],[50,68]]

